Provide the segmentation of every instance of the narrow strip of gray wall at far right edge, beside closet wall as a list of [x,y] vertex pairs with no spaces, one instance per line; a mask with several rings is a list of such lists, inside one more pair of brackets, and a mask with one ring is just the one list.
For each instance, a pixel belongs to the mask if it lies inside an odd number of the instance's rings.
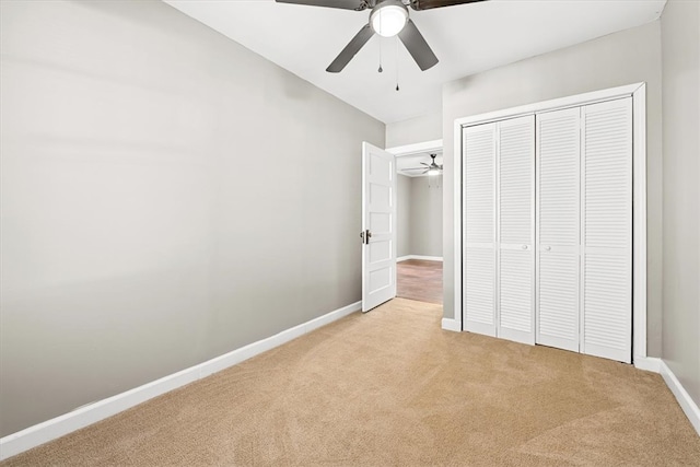
[[662,357],[700,406],[700,3],[669,1],[661,27],[664,81]]

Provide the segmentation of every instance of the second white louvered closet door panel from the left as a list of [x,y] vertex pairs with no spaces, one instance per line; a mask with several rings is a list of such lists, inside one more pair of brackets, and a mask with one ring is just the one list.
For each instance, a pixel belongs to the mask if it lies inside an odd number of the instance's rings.
[[498,336],[535,343],[535,116],[498,124]]

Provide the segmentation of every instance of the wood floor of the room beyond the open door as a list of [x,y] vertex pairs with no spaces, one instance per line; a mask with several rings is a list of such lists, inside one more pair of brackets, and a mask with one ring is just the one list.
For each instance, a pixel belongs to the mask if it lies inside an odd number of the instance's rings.
[[442,261],[408,259],[396,265],[397,296],[442,304]]

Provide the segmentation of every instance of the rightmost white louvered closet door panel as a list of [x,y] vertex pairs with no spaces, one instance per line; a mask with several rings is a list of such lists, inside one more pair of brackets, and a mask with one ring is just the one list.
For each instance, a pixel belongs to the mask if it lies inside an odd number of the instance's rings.
[[632,100],[582,107],[581,351],[631,362]]

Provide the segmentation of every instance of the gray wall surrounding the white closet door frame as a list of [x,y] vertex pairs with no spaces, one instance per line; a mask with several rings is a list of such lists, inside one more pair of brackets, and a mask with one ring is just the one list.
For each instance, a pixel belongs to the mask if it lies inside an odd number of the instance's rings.
[[648,352],[661,355],[661,25],[632,30],[470,75],[443,86],[444,315],[454,316],[454,120],[517,105],[646,82]]

